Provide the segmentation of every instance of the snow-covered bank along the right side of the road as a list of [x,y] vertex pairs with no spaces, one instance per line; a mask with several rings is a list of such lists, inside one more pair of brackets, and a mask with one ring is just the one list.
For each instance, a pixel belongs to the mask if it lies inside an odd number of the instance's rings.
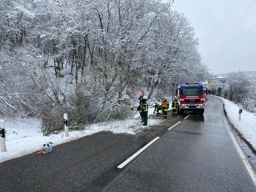
[[241,121],[239,121],[239,105],[222,97],[219,98],[224,102],[229,122],[256,149],[256,115],[243,109]]

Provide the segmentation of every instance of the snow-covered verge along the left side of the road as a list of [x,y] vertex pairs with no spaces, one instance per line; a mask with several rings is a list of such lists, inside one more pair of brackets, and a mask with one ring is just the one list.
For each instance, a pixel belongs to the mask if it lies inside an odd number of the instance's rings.
[[[154,108],[150,108],[148,114],[153,114]],[[133,115],[134,115],[133,111]],[[148,125],[157,125],[161,122],[158,119],[150,119]],[[56,145],[79,139],[101,131],[111,131],[113,133],[135,134],[147,128],[140,123],[140,114],[137,112],[132,118],[125,121],[112,121],[88,125],[81,131],[69,131],[69,137],[65,137],[64,130],[59,134],[43,136],[40,129],[40,122],[35,119],[30,123],[7,122],[5,120],[6,131],[6,151],[0,152],[0,163],[17,157],[41,151],[45,143],[53,143],[53,151]],[[63,125],[64,129],[64,125]],[[36,154],[35,154],[36,155]]]

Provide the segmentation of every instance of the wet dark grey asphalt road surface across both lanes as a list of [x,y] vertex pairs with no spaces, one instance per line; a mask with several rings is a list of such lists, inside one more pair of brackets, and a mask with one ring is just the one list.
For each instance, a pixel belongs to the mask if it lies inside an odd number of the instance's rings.
[[[203,116],[169,114],[162,125],[136,135],[101,132],[55,146],[51,154],[1,163],[0,191],[255,192],[224,123],[222,102],[209,98]],[[117,168],[155,137],[160,138]]]

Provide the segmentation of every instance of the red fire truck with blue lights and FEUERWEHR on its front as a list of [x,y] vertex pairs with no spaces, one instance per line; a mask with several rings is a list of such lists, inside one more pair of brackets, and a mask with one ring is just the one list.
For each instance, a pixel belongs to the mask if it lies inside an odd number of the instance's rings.
[[180,83],[176,89],[178,99],[178,113],[184,111],[198,111],[200,115],[204,113],[205,98],[203,84],[183,84]]

